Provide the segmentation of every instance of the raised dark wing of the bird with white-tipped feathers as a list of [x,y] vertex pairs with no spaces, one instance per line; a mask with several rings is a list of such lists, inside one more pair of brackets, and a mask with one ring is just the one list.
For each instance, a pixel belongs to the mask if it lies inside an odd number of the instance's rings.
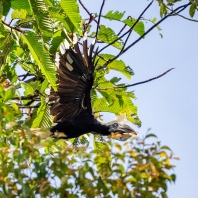
[[50,98],[56,101],[50,109],[51,115],[55,116],[54,122],[75,117],[84,109],[92,113],[90,91],[94,80],[94,44],[88,48],[85,38],[83,54],[76,42],[73,48],[64,49],[63,55],[57,55],[58,91],[52,90],[50,93]]

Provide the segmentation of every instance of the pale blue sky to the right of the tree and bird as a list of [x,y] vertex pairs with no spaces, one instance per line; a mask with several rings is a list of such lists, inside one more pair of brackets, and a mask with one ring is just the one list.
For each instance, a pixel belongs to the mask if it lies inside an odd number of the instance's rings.
[[[108,0],[104,14],[109,10],[126,11],[137,18],[150,1]],[[188,3],[188,1],[182,1]],[[98,12],[101,1],[83,0],[91,12]],[[179,4],[178,4],[179,5]],[[188,9],[182,12],[189,17]],[[154,2],[144,15],[147,19],[159,16],[159,7]],[[194,17],[196,19],[196,15]],[[110,25],[110,24],[109,24]],[[148,27],[146,25],[146,27]],[[197,197],[198,167],[198,25],[180,17],[171,17],[160,25],[163,38],[157,30],[137,43],[125,55],[124,62],[132,67],[135,83],[155,77],[174,67],[164,77],[144,85],[129,88],[134,90],[142,127],[136,128],[143,136],[148,128],[157,134],[163,145],[172,148],[180,161],[175,161],[176,184],[169,185],[170,198]],[[116,28],[116,26],[112,27]],[[133,39],[137,36],[133,36]],[[132,40],[131,40],[132,41]],[[105,121],[113,116],[106,115]]]

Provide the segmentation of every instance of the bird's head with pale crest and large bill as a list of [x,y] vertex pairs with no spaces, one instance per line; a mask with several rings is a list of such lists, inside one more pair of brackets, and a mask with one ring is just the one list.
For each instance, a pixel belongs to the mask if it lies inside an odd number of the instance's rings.
[[110,137],[112,139],[126,141],[132,135],[136,135],[137,133],[125,122],[125,115],[121,115],[116,120],[109,122],[107,125],[109,126]]

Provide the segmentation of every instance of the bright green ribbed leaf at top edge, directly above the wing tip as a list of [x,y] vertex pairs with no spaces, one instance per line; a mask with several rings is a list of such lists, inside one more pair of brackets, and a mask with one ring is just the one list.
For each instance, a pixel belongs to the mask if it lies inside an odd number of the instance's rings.
[[76,28],[76,31],[81,33],[81,27],[80,27],[81,16],[79,13],[79,7],[78,7],[78,4],[76,3],[76,0],[62,0],[60,2],[60,5],[65,11],[69,20],[72,22],[72,24]]

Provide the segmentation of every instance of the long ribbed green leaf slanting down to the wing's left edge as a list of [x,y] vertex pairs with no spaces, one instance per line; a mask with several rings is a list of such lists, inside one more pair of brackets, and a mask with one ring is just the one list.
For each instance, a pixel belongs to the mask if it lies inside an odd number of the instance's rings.
[[51,62],[49,55],[44,51],[42,43],[39,42],[38,36],[33,32],[28,32],[26,35],[22,35],[24,42],[28,45],[29,50],[41,69],[42,73],[51,83],[53,89],[56,91],[56,75],[55,66]]

